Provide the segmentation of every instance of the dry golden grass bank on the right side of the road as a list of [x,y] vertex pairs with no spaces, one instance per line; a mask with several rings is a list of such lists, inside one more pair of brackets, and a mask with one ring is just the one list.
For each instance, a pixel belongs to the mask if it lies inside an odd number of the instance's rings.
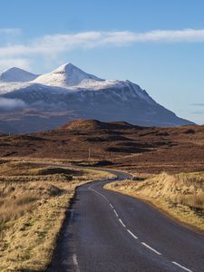
[[204,231],[204,172],[161,173],[106,184],[112,189],[146,200],[166,214]]

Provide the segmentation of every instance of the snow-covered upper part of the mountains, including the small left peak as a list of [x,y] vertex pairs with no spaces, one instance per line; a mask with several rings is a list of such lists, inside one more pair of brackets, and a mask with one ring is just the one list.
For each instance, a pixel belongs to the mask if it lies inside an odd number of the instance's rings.
[[[52,86],[53,88],[55,87],[54,90],[56,92],[60,90],[63,90],[63,92],[102,91],[104,95],[108,95],[111,100],[114,100],[116,95],[117,99],[120,99],[122,102],[131,101],[132,98],[140,98],[142,101],[154,103],[148,93],[141,90],[141,87],[137,84],[131,83],[128,80],[102,80],[90,73],[83,72],[72,63],[64,63],[57,69],[54,69],[53,72],[38,76],[34,81],[29,82],[28,86],[22,83],[29,81],[27,72],[22,69],[13,67],[5,71],[2,76],[4,76],[6,80],[0,82],[0,93],[13,92],[21,88],[25,88],[26,90],[38,90],[39,88],[43,88],[47,90],[48,86]],[[21,78],[21,80],[19,80],[19,78]],[[15,81],[21,81],[21,83],[15,83]],[[40,87],[38,86],[39,84]],[[51,88],[49,90],[51,91]]]

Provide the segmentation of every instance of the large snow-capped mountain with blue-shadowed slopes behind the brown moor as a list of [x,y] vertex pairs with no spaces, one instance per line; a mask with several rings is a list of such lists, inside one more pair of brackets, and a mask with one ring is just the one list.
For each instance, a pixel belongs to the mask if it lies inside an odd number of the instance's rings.
[[166,127],[192,123],[155,102],[139,85],[103,80],[72,63],[30,82],[18,79],[10,76],[10,83],[0,82],[0,124],[4,128],[9,122],[11,132],[51,130],[74,119]]

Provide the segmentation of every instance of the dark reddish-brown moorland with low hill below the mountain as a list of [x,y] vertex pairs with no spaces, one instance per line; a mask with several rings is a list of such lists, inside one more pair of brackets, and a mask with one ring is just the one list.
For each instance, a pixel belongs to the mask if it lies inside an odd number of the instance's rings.
[[[139,127],[127,122],[76,120],[53,131],[0,136],[2,158],[105,161],[131,172],[204,170],[204,126]],[[89,162],[90,163],[90,162]]]

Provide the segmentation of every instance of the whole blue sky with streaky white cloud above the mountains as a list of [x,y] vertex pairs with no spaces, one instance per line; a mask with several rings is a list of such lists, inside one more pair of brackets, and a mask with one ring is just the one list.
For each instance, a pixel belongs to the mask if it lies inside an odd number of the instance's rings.
[[0,73],[73,63],[204,123],[203,0],[0,0]]

